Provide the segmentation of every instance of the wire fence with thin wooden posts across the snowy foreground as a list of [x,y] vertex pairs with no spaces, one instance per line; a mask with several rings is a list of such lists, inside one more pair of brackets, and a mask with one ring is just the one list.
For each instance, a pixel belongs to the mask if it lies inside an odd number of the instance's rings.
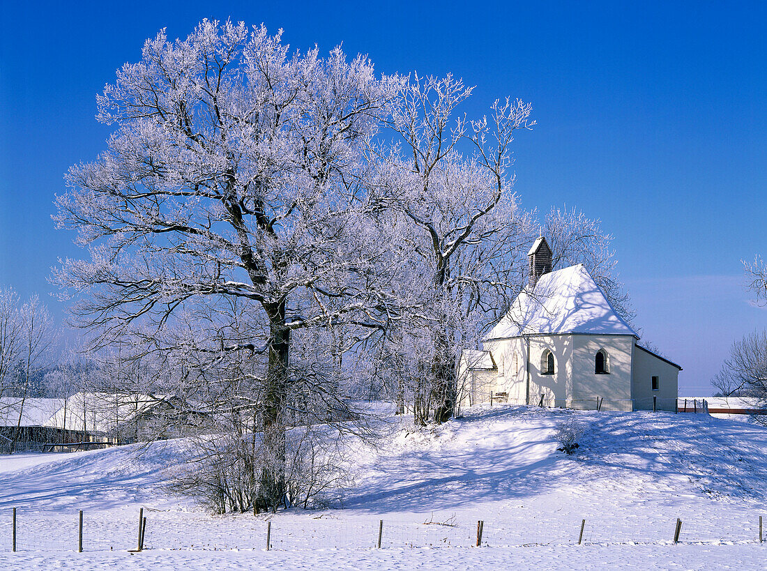
[[[179,514],[147,511],[136,517],[71,518],[4,510],[2,551],[313,550],[391,547],[543,546],[575,544],[762,543],[762,517],[722,520],[641,517],[533,520],[524,525],[491,520],[304,521],[253,518],[201,519],[179,525]],[[146,515],[144,520],[143,515]],[[140,527],[140,522],[143,527]]]

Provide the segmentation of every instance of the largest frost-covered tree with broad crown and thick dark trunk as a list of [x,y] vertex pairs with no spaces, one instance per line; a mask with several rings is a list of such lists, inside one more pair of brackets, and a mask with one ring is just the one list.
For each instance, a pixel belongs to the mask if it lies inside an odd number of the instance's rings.
[[[74,316],[96,347],[130,336],[146,350],[187,343],[262,359],[248,374],[263,389],[274,461],[262,481],[275,505],[294,336],[378,327],[366,313],[380,299],[368,287],[364,158],[400,80],[340,48],[291,54],[280,33],[242,23],[205,20],[183,41],[161,31],[142,56],[97,98],[98,120],[116,126],[107,150],[73,166],[58,197],[58,224],[91,258],[67,260],[55,277],[77,294]],[[260,335],[216,335],[189,318],[231,300]]]

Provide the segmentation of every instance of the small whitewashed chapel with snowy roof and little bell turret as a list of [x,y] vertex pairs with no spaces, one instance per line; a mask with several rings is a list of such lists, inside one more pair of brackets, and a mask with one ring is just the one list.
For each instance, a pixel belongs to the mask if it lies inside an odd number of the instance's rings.
[[483,350],[463,352],[462,406],[676,410],[682,368],[638,343],[583,264],[551,271],[545,238],[528,257],[528,288],[484,337]]

